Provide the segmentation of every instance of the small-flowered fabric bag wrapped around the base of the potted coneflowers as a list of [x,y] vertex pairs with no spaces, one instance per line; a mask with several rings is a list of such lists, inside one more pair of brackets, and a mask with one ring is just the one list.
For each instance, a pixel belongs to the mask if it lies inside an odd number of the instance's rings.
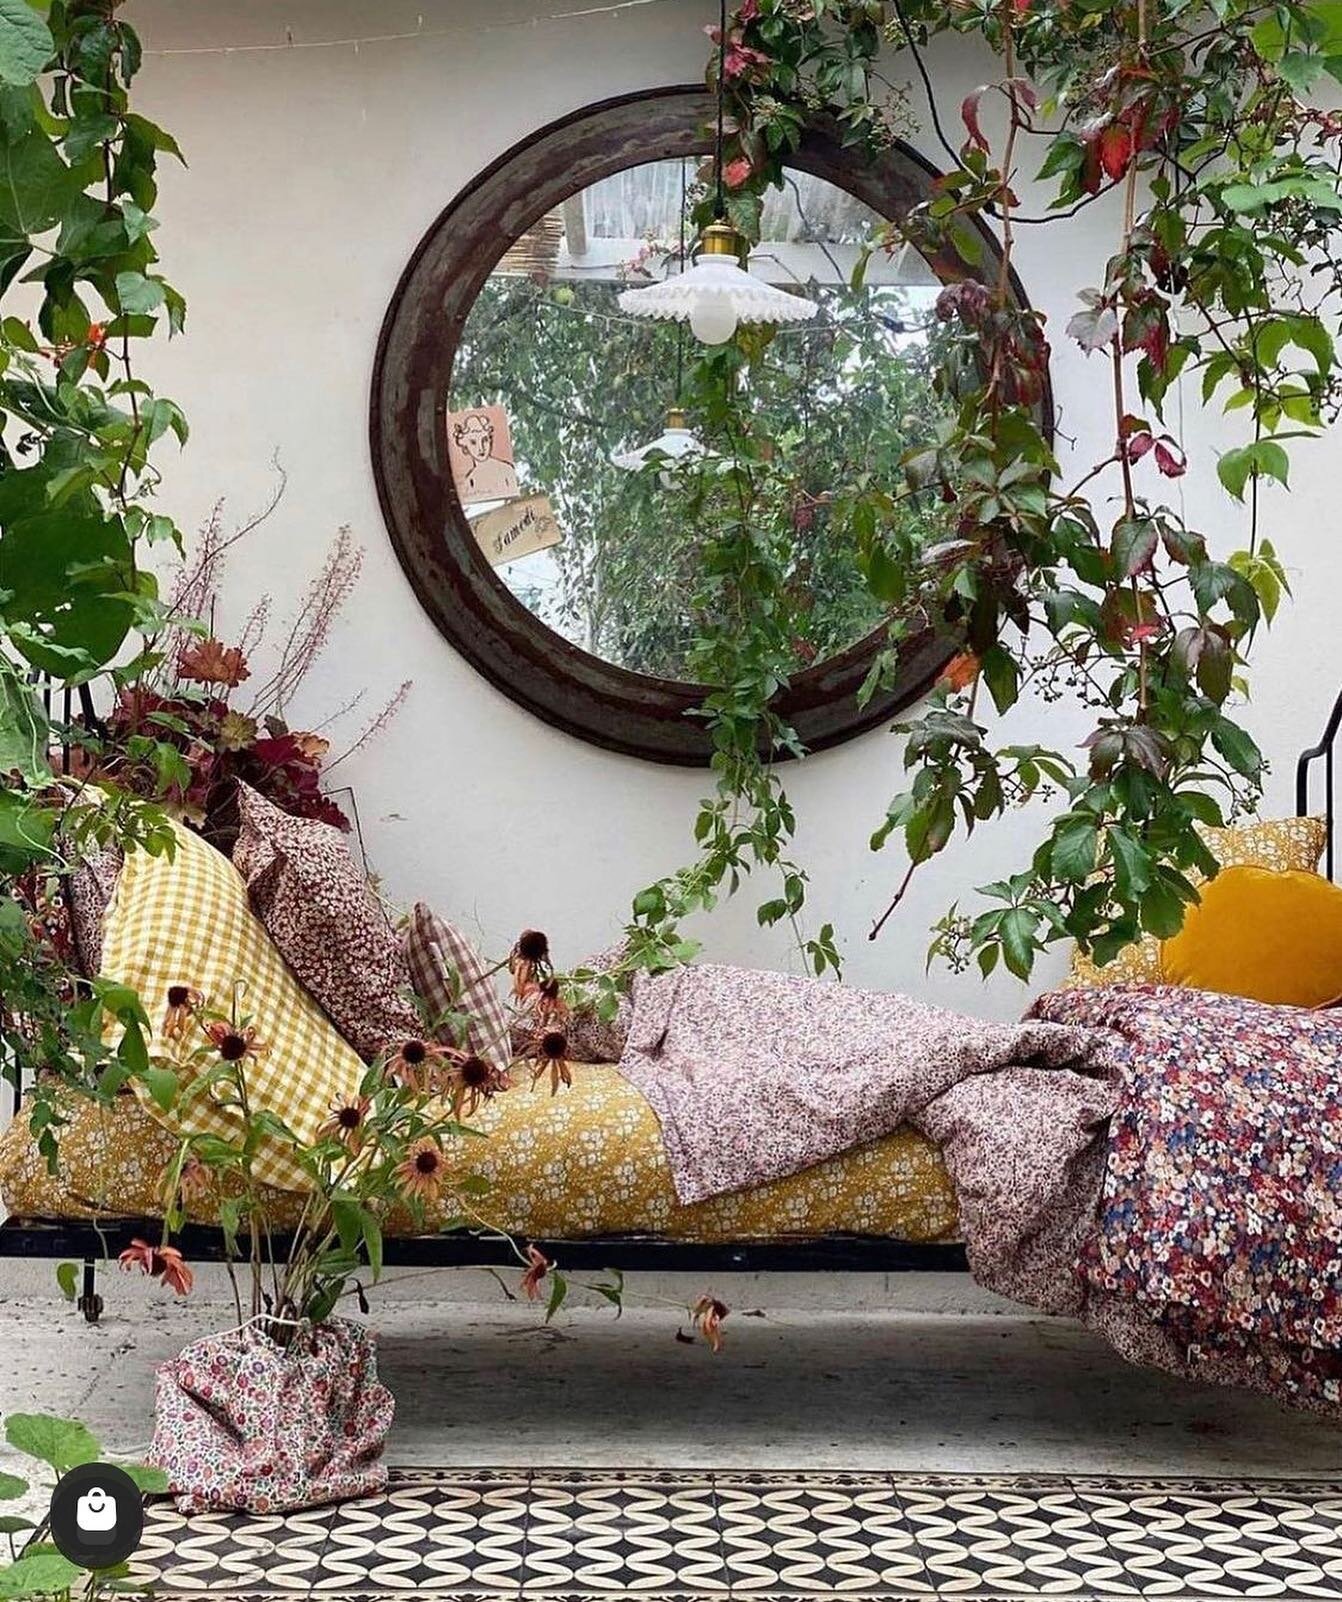
[[283,1512],[386,1485],[396,1403],[368,1330],[328,1318],[280,1346],[274,1325],[253,1318],[159,1365],[149,1458],[181,1512]]

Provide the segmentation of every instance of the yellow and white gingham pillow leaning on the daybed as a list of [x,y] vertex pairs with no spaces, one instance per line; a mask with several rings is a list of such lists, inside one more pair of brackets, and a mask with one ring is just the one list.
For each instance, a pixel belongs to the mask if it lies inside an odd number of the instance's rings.
[[[247,905],[237,868],[186,827],[175,823],[173,831],[171,860],[127,852],[102,929],[102,974],[139,993],[154,1028],[151,1051],[163,1049],[170,985],[192,985],[227,1012],[242,982],[239,1012],[271,1048],[247,1062],[248,1099],[312,1141],[331,1102],[357,1094],[364,1064],[285,968]],[[146,1107],[175,1133],[231,1137],[237,1129],[234,1115],[203,1097],[191,1102],[184,1121],[152,1101]],[[303,1169],[274,1141],[258,1152],[256,1176],[285,1190],[307,1189]]]

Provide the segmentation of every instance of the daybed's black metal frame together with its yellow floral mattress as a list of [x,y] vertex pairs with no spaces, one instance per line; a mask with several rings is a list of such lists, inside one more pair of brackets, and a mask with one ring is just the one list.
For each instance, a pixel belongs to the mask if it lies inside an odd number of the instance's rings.
[[[1326,871],[1332,875],[1332,766],[1342,697],[1323,740],[1299,764],[1304,817],[1310,774],[1321,763]],[[958,1269],[956,1197],[937,1145],[900,1129],[863,1149],[749,1192],[689,1206],[676,1202],[658,1121],[612,1065],[575,1067],[572,1091],[511,1093],[480,1117],[490,1139],[472,1142],[471,1171],[492,1181],[490,1219],[535,1240],[573,1269]],[[80,1104],[62,1131],[51,1176],[14,1118],[0,1137],[0,1192],[13,1216],[0,1254],[75,1258],[85,1266],[82,1310],[96,1320],[94,1267],[133,1235],[154,1229],[159,1174],[171,1136],[127,1096],[112,1115]],[[277,1193],[282,1224],[291,1198]],[[207,1221],[181,1240],[189,1256],[221,1254]],[[495,1229],[426,1235],[388,1230],[388,1264],[509,1264]]]

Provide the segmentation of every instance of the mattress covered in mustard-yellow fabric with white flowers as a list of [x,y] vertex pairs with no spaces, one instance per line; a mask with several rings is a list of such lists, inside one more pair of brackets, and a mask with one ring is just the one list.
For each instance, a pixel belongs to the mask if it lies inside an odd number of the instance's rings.
[[[135,1096],[112,1107],[82,1097],[64,1105],[54,1174],[19,1117],[0,1136],[0,1197],[19,1218],[154,1218],[173,1134]],[[657,1235],[682,1242],[798,1240],[882,1235],[932,1243],[956,1238],[956,1202],[940,1152],[913,1129],[817,1163],[754,1190],[681,1206],[652,1107],[615,1067],[575,1064],[573,1086],[512,1089],[472,1120],[485,1139],[450,1152],[460,1174],[479,1174],[488,1190],[472,1198],[482,1226],[540,1240],[591,1235]],[[303,1198],[267,1193],[272,1227],[295,1222]],[[216,1202],[192,1210],[213,1222]],[[460,1198],[429,1208],[429,1230],[460,1219]],[[389,1218],[389,1234],[408,1234],[408,1218]]]

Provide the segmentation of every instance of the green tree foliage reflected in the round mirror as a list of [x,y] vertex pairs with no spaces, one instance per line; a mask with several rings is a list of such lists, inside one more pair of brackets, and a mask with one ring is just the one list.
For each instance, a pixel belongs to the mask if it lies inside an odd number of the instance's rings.
[[[565,639],[636,673],[693,679],[697,644],[721,622],[703,551],[751,498],[756,537],[777,572],[775,633],[793,671],[879,628],[874,593],[839,508],[854,484],[889,484],[902,457],[930,444],[946,415],[934,391],[935,290],[921,285],[806,285],[814,324],[751,335],[717,357],[687,333],[618,311],[618,277],[552,280],[493,274],[472,308],[452,405],[501,404],[524,493],[551,498],[565,532],[551,551],[501,569],[512,593]],[[751,356],[756,359],[751,360]],[[735,409],[716,402],[721,367],[751,415],[749,471],[732,437]],[[612,457],[658,437],[682,402],[703,453],[642,471]],[[938,537],[934,497],[895,509],[889,537],[913,553]]]

